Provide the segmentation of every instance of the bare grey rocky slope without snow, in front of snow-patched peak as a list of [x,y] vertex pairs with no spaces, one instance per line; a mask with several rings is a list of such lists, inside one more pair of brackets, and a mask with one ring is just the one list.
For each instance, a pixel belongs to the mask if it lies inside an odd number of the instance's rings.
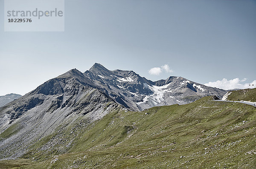
[[36,140],[83,117],[90,123],[118,105],[76,69],[0,108],[0,158],[17,158]]

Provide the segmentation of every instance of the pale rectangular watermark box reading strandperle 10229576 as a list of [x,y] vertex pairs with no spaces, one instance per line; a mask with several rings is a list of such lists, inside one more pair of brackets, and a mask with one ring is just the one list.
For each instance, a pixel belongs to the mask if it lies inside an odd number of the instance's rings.
[[6,32],[64,32],[64,0],[5,0]]

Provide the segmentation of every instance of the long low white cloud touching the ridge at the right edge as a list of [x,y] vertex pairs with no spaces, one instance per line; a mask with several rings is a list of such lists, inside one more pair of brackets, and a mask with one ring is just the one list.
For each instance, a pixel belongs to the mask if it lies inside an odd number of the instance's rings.
[[[224,90],[228,89],[247,89],[247,88],[255,88],[256,87],[256,80],[253,80],[251,83],[242,83],[245,82],[247,79],[244,78],[240,80],[239,78],[227,80],[223,78],[222,80],[217,80],[215,82],[208,82],[205,83],[205,86],[210,86],[210,87],[216,87]],[[254,86],[252,86],[252,84]],[[250,85],[250,86],[249,86]]]

